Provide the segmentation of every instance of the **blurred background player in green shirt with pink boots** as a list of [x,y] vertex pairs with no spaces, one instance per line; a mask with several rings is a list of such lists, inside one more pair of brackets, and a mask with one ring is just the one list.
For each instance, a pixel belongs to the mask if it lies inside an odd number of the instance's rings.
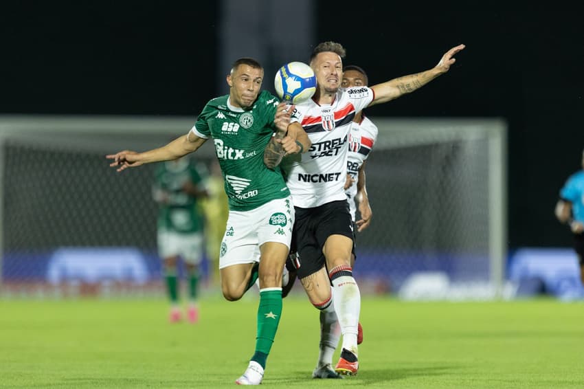
[[158,164],[155,169],[153,198],[159,205],[157,221],[158,254],[163,260],[166,290],[170,298],[170,322],[179,322],[179,259],[183,260],[188,280],[187,318],[199,320],[197,294],[199,265],[203,260],[203,214],[198,203],[207,197],[201,173],[183,157]]

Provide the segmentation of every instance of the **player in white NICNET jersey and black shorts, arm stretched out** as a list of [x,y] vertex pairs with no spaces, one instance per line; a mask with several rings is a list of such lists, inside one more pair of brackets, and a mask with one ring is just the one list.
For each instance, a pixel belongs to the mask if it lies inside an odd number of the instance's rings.
[[343,335],[341,356],[333,370],[329,361],[337,342],[326,339],[330,330],[323,329],[314,378],[356,375],[359,370],[357,333],[361,295],[352,276],[352,219],[344,191],[352,120],[364,108],[413,92],[446,73],[456,61],[453,56],[462,49],[464,45],[449,49],[438,65],[429,70],[371,88],[348,89],[341,88],[344,47],[324,42],[313,50],[310,65],[317,77],[317,91],[312,100],[296,105],[289,125],[289,129],[302,126],[312,146],[302,156],[284,158],[282,169],[295,206],[292,244],[301,260],[298,278],[317,309],[336,312]]

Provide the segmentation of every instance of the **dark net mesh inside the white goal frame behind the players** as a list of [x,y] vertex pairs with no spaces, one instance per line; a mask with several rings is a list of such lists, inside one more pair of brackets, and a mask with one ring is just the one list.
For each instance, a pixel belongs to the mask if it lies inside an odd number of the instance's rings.
[[[192,120],[160,120],[145,133],[136,130],[144,121],[85,122],[91,131],[76,131],[61,120],[40,136],[36,124],[23,121],[3,134],[4,285],[45,282],[54,253],[63,247],[131,247],[145,258],[148,279],[159,280],[155,166],[116,173],[104,155],[132,148],[137,139],[136,150],[165,144],[186,133]],[[488,125],[374,122],[379,137],[366,166],[374,217],[357,234],[354,269],[363,291],[367,285],[397,290],[412,274],[428,271],[453,282],[488,282],[490,212],[498,212],[490,198]],[[212,145],[196,157],[208,164]]]

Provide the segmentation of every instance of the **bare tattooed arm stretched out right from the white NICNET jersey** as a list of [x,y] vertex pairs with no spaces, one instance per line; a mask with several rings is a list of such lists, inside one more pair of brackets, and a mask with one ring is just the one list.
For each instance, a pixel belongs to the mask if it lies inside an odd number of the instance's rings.
[[451,65],[456,62],[454,55],[460,50],[464,49],[464,45],[458,45],[449,49],[446,54],[442,56],[440,62],[435,67],[422,71],[421,73],[409,74],[408,76],[394,78],[387,82],[381,84],[373,85],[371,89],[375,92],[375,98],[369,104],[370,106],[374,104],[380,104],[382,102],[388,102],[394,100],[405,93],[411,93],[416,89],[420,89],[426,85],[434,78],[445,74],[449,71]]

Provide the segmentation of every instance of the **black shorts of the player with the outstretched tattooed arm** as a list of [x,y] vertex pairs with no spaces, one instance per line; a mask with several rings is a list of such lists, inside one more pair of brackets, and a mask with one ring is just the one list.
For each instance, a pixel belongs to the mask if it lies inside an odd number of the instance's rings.
[[[353,223],[346,200],[331,201],[315,208],[295,209],[293,247],[300,256],[298,278],[316,273],[325,265],[322,247],[331,235],[344,235],[353,242]],[[353,243],[355,249],[355,243]]]

